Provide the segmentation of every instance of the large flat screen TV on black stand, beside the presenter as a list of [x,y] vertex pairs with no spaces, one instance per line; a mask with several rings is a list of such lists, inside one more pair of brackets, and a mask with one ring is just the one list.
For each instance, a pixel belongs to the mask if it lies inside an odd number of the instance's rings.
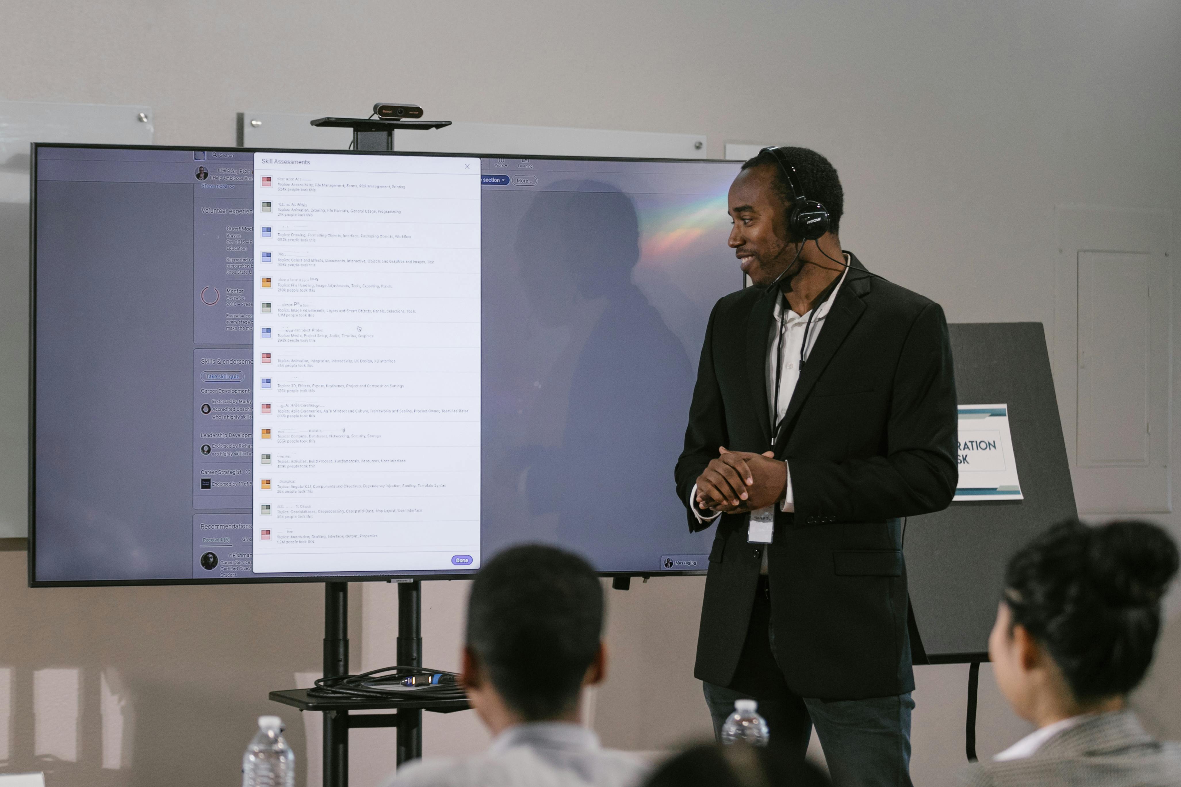
[[34,585],[697,572],[736,162],[35,145]]

